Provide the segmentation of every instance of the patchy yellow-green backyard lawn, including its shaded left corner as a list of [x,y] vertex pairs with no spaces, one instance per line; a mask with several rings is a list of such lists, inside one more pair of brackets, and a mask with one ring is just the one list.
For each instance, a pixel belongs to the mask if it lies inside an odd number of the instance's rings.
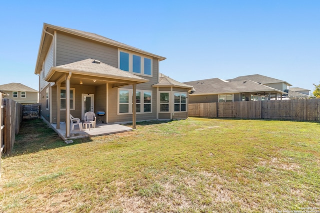
[[2,158],[0,208],[320,211],[319,132],[312,122],[190,118],[137,123],[132,132],[66,145],[42,121],[31,121],[13,154]]

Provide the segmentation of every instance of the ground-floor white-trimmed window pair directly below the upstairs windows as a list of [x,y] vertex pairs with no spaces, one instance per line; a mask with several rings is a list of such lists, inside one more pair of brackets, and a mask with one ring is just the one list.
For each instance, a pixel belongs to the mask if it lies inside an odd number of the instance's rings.
[[[152,112],[152,91],[136,90],[136,113]],[[131,114],[133,108],[133,90],[118,88],[117,114]]]

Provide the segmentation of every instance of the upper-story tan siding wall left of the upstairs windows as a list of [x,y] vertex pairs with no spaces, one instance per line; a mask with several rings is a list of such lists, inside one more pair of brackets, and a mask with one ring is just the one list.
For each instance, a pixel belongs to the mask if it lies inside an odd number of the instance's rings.
[[76,36],[57,33],[56,65],[94,58],[117,67],[117,48]]

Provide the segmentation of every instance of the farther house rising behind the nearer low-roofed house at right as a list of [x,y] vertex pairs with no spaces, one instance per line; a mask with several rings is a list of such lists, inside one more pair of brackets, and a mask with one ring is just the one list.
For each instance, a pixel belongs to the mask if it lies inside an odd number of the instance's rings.
[[259,75],[259,74],[239,76],[233,79],[228,79],[227,81],[245,81],[245,80],[251,80],[257,83],[261,83],[265,86],[272,87],[274,89],[277,89],[283,92],[286,89],[290,89],[290,86],[292,86],[286,81],[270,78],[270,77]]

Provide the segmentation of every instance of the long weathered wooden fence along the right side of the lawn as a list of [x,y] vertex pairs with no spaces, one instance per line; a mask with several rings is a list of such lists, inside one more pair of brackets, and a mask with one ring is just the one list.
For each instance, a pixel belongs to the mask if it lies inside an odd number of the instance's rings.
[[320,99],[188,104],[194,117],[320,121]]

